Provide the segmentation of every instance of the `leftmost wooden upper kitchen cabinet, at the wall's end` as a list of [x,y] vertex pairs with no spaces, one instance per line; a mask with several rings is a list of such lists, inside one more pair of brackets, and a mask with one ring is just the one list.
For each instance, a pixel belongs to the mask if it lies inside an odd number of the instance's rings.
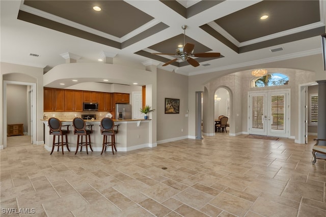
[[43,92],[44,112],[65,111],[65,91],[64,89],[44,88]]

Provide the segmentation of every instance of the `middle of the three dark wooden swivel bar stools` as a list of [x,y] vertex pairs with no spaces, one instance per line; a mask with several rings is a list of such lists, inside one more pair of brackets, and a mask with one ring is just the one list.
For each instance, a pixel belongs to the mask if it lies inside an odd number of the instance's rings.
[[[86,122],[82,118],[74,118],[72,121],[72,125],[74,127],[73,133],[77,135],[77,147],[76,147],[75,154],[77,153],[79,146],[80,146],[80,151],[82,151],[83,146],[86,146],[87,154],[88,154],[88,146],[90,146],[91,151],[93,151],[91,145],[91,134],[93,133],[93,124],[86,125]],[[83,136],[85,136],[85,142],[83,142]]]

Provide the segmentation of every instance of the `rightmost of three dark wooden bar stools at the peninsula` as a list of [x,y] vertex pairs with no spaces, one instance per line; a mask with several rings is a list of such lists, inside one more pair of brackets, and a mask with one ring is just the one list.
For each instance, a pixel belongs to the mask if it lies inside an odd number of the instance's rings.
[[[112,118],[103,118],[101,120],[101,134],[103,135],[103,143],[102,143],[102,152],[106,151],[107,146],[112,147],[112,153],[114,154],[114,150],[117,151],[116,148],[116,134],[119,132],[119,125],[114,124],[114,120]],[[116,127],[116,129],[115,129]],[[111,137],[111,142],[107,142],[107,137]],[[113,150],[114,149],[114,150]]]

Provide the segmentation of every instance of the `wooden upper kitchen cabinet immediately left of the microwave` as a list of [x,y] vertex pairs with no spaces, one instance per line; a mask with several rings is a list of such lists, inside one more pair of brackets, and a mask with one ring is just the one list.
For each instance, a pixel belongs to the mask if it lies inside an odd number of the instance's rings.
[[83,112],[83,91],[65,90],[65,112]]

